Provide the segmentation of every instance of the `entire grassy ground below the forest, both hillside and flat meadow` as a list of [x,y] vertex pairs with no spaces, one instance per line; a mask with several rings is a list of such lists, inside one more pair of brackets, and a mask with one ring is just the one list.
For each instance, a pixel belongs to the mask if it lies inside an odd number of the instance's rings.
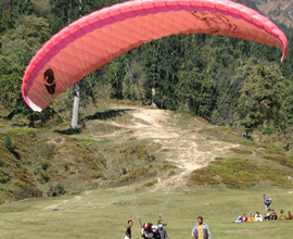
[[[293,158],[273,137],[256,131],[252,141],[183,114],[116,104],[114,110],[105,108],[100,109],[102,113],[114,111],[116,116],[89,120],[79,135],[68,134],[68,123],[30,129],[21,120],[0,117],[0,238],[124,238],[131,218],[132,238],[139,239],[136,215],[142,223],[156,224],[164,205],[163,189],[175,184],[178,188],[167,197],[171,200],[163,214],[170,239],[190,239],[199,215],[214,239],[292,238],[293,221],[232,223],[251,211],[264,215],[264,193],[272,198],[277,213],[293,211]],[[99,118],[102,113],[87,115]],[[16,146],[14,153],[3,147],[7,135]],[[139,159],[138,164],[128,163],[133,168],[123,177],[119,169],[125,168],[119,168],[116,159],[122,155],[129,162]],[[111,176],[112,169],[124,180],[100,178],[101,173]],[[135,193],[137,207],[128,207],[133,200],[125,203],[117,190],[102,189],[106,183],[128,183],[133,175],[140,185]],[[56,184],[64,186],[65,196],[15,201],[27,198],[27,189],[44,194]],[[124,189],[123,196],[132,196],[130,187]]]

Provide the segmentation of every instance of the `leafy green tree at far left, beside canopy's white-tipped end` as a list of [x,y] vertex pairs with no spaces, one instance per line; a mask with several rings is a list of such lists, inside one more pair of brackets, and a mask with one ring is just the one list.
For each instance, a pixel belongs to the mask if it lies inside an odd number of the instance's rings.
[[29,121],[52,115],[51,109],[41,115],[33,112],[23,100],[21,86],[25,67],[36,51],[50,37],[49,24],[42,17],[24,16],[15,29],[9,29],[2,37],[0,55],[0,97],[2,104],[11,110],[9,118],[15,114],[27,115]]

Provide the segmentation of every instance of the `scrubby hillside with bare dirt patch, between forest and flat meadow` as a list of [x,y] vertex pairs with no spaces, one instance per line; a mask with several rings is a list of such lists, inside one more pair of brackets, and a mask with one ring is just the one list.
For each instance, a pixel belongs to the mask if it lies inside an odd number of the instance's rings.
[[[68,121],[56,118],[27,128],[25,120],[5,120],[2,109],[2,201],[128,186],[129,180],[152,190],[156,185],[204,183],[293,187],[293,160],[273,142],[273,135],[255,133],[253,142],[201,118],[125,102],[102,102],[95,111],[84,110],[84,128],[73,133]],[[15,144],[13,152],[3,146],[7,135]],[[246,184],[238,181],[239,175],[249,177]]]

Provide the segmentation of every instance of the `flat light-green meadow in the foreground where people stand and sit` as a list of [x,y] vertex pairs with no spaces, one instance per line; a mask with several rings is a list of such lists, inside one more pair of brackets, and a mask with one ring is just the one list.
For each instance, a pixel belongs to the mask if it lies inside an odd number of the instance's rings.
[[[250,211],[264,214],[263,193],[273,200],[271,207],[293,211],[290,190],[250,190],[220,187],[177,188],[163,215],[171,239],[190,238],[196,217],[202,215],[213,238],[291,238],[292,221],[233,224],[238,215]],[[162,191],[137,193],[143,222],[156,223]],[[133,219],[132,238],[140,238],[135,214],[115,190],[87,191],[77,196],[24,200],[0,206],[0,238],[123,238],[129,218]]]

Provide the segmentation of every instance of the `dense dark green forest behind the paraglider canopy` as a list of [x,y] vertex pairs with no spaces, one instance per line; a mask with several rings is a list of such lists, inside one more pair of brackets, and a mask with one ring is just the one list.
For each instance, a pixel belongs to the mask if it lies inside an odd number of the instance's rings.
[[[14,114],[46,120],[54,112],[33,113],[21,95],[25,67],[55,33],[94,10],[118,0],[0,0],[0,101]],[[244,4],[256,8],[253,1]],[[80,106],[99,98],[201,116],[249,134],[259,126],[278,131],[291,146],[293,39],[284,63],[279,49],[242,39],[169,36],[133,49],[80,81]],[[154,93],[155,92],[155,93]],[[72,105],[71,105],[72,106]]]

